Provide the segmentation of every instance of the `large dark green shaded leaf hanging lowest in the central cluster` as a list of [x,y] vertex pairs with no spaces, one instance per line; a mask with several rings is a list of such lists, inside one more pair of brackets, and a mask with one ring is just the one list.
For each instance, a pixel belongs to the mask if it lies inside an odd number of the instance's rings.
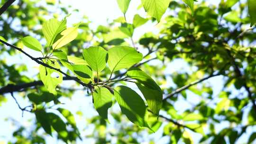
[[114,90],[114,96],[121,111],[128,119],[138,126],[147,125],[146,105],[141,97],[132,89],[126,86],[118,86]]

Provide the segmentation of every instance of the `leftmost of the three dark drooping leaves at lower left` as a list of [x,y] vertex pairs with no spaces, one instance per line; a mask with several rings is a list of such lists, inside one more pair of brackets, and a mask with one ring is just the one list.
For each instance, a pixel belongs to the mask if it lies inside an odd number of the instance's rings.
[[41,124],[45,132],[49,135],[52,135],[52,129],[51,129],[51,124],[50,124],[50,119],[46,113],[45,110],[37,110],[35,112],[37,122]]

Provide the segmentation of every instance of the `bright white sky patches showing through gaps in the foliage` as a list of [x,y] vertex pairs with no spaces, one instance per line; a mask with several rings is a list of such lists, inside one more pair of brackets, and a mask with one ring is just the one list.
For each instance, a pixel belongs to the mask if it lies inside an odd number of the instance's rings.
[[[79,17],[81,17],[82,15],[86,15],[92,21],[91,27],[96,28],[99,25],[107,25],[108,23],[107,21],[112,21],[113,19],[116,19],[122,16],[122,13],[118,8],[118,4],[116,0],[61,0],[61,1],[64,4],[71,5],[74,9],[79,9],[79,14],[73,13],[70,19],[68,19],[69,23],[79,22],[80,20]],[[201,2],[201,0],[199,0],[199,2]],[[219,2],[219,0],[207,0],[207,2],[211,4],[216,4]],[[126,14],[128,22],[131,23],[133,16],[137,13],[139,13],[142,17],[146,17],[146,13],[143,9],[137,10],[137,7],[139,5],[140,5],[140,0],[131,0],[129,9]],[[148,22],[146,23],[145,26],[137,28],[134,35],[135,41],[141,35],[143,35],[145,32],[149,30],[153,32],[157,32],[158,30],[157,27],[158,27],[157,25]],[[34,54],[35,57],[37,57],[37,55],[40,56],[37,53],[35,54],[30,49],[25,48],[25,51],[28,54]],[[4,57],[7,57],[7,54],[0,55],[0,58],[4,58]],[[7,61],[9,64],[26,62],[29,70],[29,72],[27,72],[26,74],[30,76],[35,75],[38,72],[37,63],[31,62],[30,59],[25,57],[24,55],[17,55],[14,59],[7,59]],[[152,64],[158,64],[158,63],[153,62]],[[167,65],[165,73],[172,74],[173,72],[180,71],[180,70],[191,71],[191,69],[188,68],[186,63],[184,63],[181,60],[175,60],[174,62]],[[223,86],[222,79],[223,77],[219,76],[216,78],[212,78],[208,81],[205,81],[205,83],[212,84],[214,95],[216,96],[218,95],[218,92],[221,90]],[[64,81],[62,85],[64,87],[69,87],[70,81],[68,82]],[[168,85],[172,85],[172,83],[169,82]],[[137,89],[135,86],[133,88]],[[7,94],[6,97],[10,98],[10,95]],[[28,103],[26,103],[27,100],[24,100],[23,98],[19,97],[18,93],[15,94],[15,97],[18,99],[21,106],[28,105]],[[189,102],[194,102],[195,99],[199,99],[199,97],[192,93],[188,94]],[[65,103],[65,108],[70,109],[73,113],[75,113],[78,110],[81,110],[83,112],[83,115],[87,118],[88,116],[97,115],[97,112],[95,111],[91,103],[91,97],[84,97],[84,91],[79,90],[74,94],[72,100],[63,99],[62,102]],[[178,102],[175,103],[174,107],[183,111],[185,108],[187,108],[187,107],[184,107],[184,103],[185,105],[189,105],[186,100],[181,98],[178,100]],[[23,125],[26,127],[29,127],[31,125],[31,123],[27,122],[27,119],[35,118],[34,115],[26,112],[24,113],[24,117],[21,117],[21,111],[20,109],[18,109],[13,99],[8,99],[6,103],[2,103],[2,106],[0,107],[0,114],[1,114],[1,117],[12,117],[16,119],[19,121],[20,125]],[[88,124],[85,117],[80,117],[80,116],[75,117],[78,127],[84,127]],[[110,122],[111,121],[113,121],[113,119],[110,119]],[[219,126],[217,127],[217,131],[220,131],[223,128],[223,126],[227,126],[227,124],[225,123],[219,124]],[[12,126],[11,122],[5,121],[3,118],[0,118],[0,129],[1,129],[0,144],[2,143],[5,144],[8,140],[10,140],[12,138],[11,134],[14,130],[16,130],[16,128],[17,128],[16,126]],[[110,129],[111,128],[114,128],[114,127],[110,125]],[[93,130],[93,126],[89,126],[88,130],[82,133],[82,135],[90,134],[92,130]],[[43,131],[41,131],[41,133],[43,133]],[[161,134],[161,131],[156,132],[155,134],[150,135],[149,137],[154,138],[156,141],[158,141],[161,144],[165,144],[166,138],[164,137],[162,139],[159,139],[161,137],[160,134]],[[196,141],[198,141],[201,137],[199,134],[195,134],[195,133],[193,133],[192,135]],[[60,141],[56,141],[56,139],[49,136],[47,137],[46,140],[49,144],[50,142],[51,144],[53,143],[62,144]],[[243,139],[240,141],[243,142]],[[78,141],[79,144],[82,144],[85,142],[87,142],[87,144],[93,144],[92,139],[86,139],[83,142]],[[144,144],[146,144],[146,142]]]

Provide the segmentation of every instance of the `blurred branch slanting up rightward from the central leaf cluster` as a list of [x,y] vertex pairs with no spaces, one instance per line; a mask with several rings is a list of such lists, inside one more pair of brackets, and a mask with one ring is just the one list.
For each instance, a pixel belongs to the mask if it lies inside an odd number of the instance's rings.
[[169,98],[171,98],[172,96],[174,96],[175,94],[180,93],[180,92],[183,91],[183,90],[187,90],[189,87],[191,87],[191,86],[193,86],[193,85],[196,85],[196,84],[198,84],[198,83],[200,83],[200,82],[202,82],[202,81],[208,80],[208,79],[210,79],[210,78],[212,78],[212,77],[219,76],[219,75],[221,75],[220,72],[217,73],[217,74],[211,74],[211,75],[209,75],[208,77],[205,77],[205,78],[202,78],[202,79],[200,79],[200,80],[193,81],[193,82],[191,82],[190,84],[184,85],[183,87],[181,87],[181,88],[179,88],[179,89],[176,89],[176,90],[174,90],[172,93],[168,94],[167,97],[166,97],[165,99],[163,99],[163,100],[169,99]]

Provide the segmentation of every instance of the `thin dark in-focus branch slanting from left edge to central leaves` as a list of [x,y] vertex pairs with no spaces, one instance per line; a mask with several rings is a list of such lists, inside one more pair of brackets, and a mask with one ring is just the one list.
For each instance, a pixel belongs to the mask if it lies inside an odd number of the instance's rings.
[[76,77],[71,77],[71,76],[69,76],[68,74],[66,74],[65,72],[62,72],[60,69],[57,69],[57,68],[52,67],[52,66],[50,66],[50,65],[48,65],[48,64],[46,64],[46,63],[41,62],[41,61],[38,60],[37,58],[35,58],[35,57],[33,57],[33,56],[27,54],[27,53],[26,53],[25,51],[23,51],[21,48],[15,46],[15,45],[11,45],[11,44],[9,44],[9,43],[7,43],[7,42],[1,40],[1,39],[0,39],[0,42],[3,43],[4,45],[10,46],[10,47],[12,47],[12,48],[15,48],[16,50],[20,51],[21,53],[27,55],[30,59],[32,59],[33,61],[37,62],[38,64],[41,64],[41,65],[43,65],[43,66],[45,66],[45,67],[47,67],[47,68],[53,69],[53,70],[55,70],[55,71],[57,71],[57,72],[60,72],[60,73],[62,73],[63,75],[65,75],[66,77],[68,77],[68,78],[70,78],[70,79],[72,79],[72,80],[78,82],[78,83],[81,84],[82,86],[88,87],[88,85],[87,85],[86,83],[83,83],[83,82],[80,81],[78,78],[76,78]]

